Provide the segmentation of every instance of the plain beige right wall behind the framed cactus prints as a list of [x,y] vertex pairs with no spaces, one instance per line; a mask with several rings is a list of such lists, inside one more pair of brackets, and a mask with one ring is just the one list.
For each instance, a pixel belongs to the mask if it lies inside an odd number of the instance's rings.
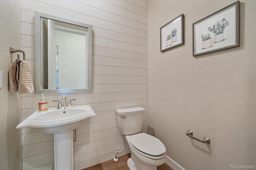
[[[240,47],[192,56],[192,23],[233,2],[148,1],[148,133],[188,170],[256,166],[256,1],[240,1]],[[182,13],[185,44],[161,53],[160,27]]]

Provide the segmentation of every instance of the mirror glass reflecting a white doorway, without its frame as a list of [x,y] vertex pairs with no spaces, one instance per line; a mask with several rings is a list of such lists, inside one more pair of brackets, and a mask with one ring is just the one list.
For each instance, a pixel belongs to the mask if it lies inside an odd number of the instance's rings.
[[47,18],[41,25],[40,88],[88,88],[88,28]]

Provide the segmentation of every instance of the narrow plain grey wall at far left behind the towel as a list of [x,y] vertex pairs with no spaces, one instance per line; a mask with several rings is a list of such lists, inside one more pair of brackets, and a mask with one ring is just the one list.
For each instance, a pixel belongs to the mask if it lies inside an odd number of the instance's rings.
[[[8,70],[11,64],[10,47],[20,49],[20,1],[0,1],[0,169],[18,170],[22,167],[21,134],[16,125],[21,121],[20,96],[8,91]],[[20,58],[22,54],[20,54]]]

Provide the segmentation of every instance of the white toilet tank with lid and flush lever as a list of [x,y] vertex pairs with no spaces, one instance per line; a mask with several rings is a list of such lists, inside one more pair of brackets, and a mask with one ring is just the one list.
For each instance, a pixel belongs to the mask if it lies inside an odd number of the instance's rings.
[[139,133],[143,123],[143,107],[116,109],[117,124],[122,135]]

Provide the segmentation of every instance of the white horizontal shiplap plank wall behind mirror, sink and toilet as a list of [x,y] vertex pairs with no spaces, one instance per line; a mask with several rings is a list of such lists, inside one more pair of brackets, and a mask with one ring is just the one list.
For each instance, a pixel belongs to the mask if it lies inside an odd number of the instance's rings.
[[[76,129],[74,170],[114,158],[123,147],[118,108],[145,108],[142,132],[148,131],[148,24],[146,0],[21,0],[21,48],[34,81],[34,11],[76,20],[93,29],[93,92],[66,94],[73,104],[96,112]],[[38,57],[38,56],[36,56]],[[63,94],[46,94],[49,107]],[[21,97],[22,120],[38,109],[40,95]],[[22,129],[23,170],[54,170],[54,137]],[[129,153],[128,145],[118,156]]]

